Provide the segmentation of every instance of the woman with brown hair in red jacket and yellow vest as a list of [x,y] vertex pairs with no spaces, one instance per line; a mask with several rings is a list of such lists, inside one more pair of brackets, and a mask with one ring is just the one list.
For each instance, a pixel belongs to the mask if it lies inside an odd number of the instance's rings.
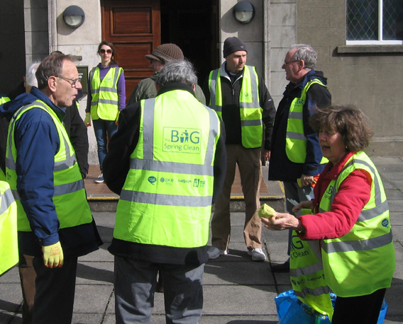
[[292,229],[302,240],[318,240],[326,283],[337,295],[333,324],[377,323],[396,267],[389,207],[377,168],[363,152],[372,137],[368,117],[353,107],[317,109],[309,120],[329,159],[296,218],[275,213],[265,227]]

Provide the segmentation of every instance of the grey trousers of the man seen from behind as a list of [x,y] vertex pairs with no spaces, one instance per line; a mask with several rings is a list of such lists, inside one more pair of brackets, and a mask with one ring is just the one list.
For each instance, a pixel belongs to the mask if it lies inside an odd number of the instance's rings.
[[203,265],[167,265],[115,256],[116,324],[151,323],[157,274],[164,282],[166,323],[199,323]]

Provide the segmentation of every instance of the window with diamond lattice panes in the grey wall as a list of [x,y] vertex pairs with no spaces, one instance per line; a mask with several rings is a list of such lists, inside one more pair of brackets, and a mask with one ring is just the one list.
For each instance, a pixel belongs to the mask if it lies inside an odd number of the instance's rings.
[[347,0],[347,45],[403,44],[403,0]]

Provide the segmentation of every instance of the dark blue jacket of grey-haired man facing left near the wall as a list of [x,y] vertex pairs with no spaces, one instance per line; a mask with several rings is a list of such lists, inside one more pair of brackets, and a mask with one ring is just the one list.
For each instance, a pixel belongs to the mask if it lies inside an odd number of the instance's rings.
[[297,181],[304,175],[319,175],[324,169],[320,165],[322,152],[316,132],[309,126],[309,117],[314,113],[316,106],[330,105],[331,94],[328,89],[319,84],[313,84],[307,92],[303,108],[304,134],[307,137],[307,158],[305,163],[289,161],[285,151],[285,139],[287,133],[287,120],[289,106],[294,98],[301,96],[302,90],[311,79],[320,79],[326,84],[326,78],[321,71],[309,71],[304,79],[297,85],[289,83],[283,93],[275,115],[275,123],[272,133],[272,149],[269,164],[269,180]]

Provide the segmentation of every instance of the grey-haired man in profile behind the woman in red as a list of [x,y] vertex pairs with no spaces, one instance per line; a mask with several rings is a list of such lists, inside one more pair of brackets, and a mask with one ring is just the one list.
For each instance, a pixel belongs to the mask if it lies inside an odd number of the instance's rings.
[[[269,180],[283,181],[289,213],[294,207],[290,199],[302,202],[314,197],[315,179],[326,163],[322,161],[318,136],[308,122],[316,107],[331,104],[326,78],[315,70],[317,57],[309,45],[293,45],[282,64],[289,83],[275,115]],[[289,231],[288,255],[291,236]],[[272,265],[272,271],[288,272],[289,259]]]

